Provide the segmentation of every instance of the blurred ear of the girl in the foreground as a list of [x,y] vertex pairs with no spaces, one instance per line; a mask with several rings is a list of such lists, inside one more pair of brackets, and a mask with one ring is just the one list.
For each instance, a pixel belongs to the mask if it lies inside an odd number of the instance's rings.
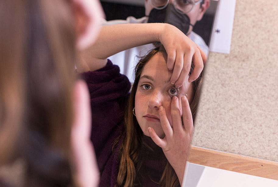
[[71,0],[76,20],[77,49],[84,50],[96,40],[104,12],[98,0]]

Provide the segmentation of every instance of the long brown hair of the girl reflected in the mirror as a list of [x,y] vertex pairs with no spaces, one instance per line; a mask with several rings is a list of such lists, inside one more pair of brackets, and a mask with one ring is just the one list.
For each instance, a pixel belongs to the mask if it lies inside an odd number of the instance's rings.
[[[126,128],[126,136],[121,144],[120,148],[120,168],[117,178],[117,186],[118,187],[128,187],[133,186],[136,176],[136,164],[138,163],[139,158],[139,148],[141,146],[142,140],[142,130],[136,120],[136,117],[133,115],[132,110],[135,107],[135,94],[138,87],[139,79],[141,73],[143,71],[144,66],[148,63],[151,58],[157,53],[164,53],[167,55],[162,44],[156,44],[157,47],[150,51],[146,56],[144,56],[135,67],[135,80],[132,85],[132,90],[129,97],[128,107],[125,113],[125,128]],[[194,68],[194,64],[192,63],[190,73]],[[199,102],[200,88],[202,84],[202,73],[201,75],[192,82],[193,86],[193,94],[194,98],[190,104],[190,109],[192,112],[193,121],[195,120],[197,106]],[[161,175],[161,179],[159,181],[161,186],[179,186],[178,176],[176,175],[172,166],[167,162],[166,167],[164,169],[163,174]]]

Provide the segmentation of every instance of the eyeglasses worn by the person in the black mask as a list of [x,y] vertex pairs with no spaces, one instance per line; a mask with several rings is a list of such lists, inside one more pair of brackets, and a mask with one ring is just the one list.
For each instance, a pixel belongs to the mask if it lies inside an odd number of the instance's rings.
[[[202,1],[203,0],[199,0],[197,2],[194,0],[174,0],[173,5],[178,12],[186,14],[190,12],[195,5],[201,3]],[[167,7],[169,0],[151,0],[150,3],[153,8],[161,10]]]

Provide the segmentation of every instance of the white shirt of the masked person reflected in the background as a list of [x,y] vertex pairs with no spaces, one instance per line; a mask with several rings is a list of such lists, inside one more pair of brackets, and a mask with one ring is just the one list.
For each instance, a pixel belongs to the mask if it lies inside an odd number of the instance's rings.
[[[122,23],[146,23],[147,17],[136,19],[133,16],[127,17],[126,20],[116,19],[111,21],[103,20],[103,25],[114,25],[114,24],[122,24]],[[195,32],[191,32],[189,38],[198,44],[201,49],[208,55],[209,47],[206,45],[206,42],[202,39],[201,36],[196,34]],[[144,46],[134,47],[120,53],[117,53],[113,56],[108,57],[109,60],[112,61],[113,64],[118,65],[120,67],[121,74],[125,74],[131,83],[134,82],[134,67],[138,63],[139,59],[137,56],[144,56],[150,50],[154,48],[153,44],[147,44]]]

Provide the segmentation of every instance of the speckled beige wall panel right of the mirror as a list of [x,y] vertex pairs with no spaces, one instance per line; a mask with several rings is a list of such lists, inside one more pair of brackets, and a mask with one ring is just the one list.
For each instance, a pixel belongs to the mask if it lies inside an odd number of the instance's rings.
[[192,144],[278,161],[277,60],[278,1],[237,0],[230,54],[209,55]]

